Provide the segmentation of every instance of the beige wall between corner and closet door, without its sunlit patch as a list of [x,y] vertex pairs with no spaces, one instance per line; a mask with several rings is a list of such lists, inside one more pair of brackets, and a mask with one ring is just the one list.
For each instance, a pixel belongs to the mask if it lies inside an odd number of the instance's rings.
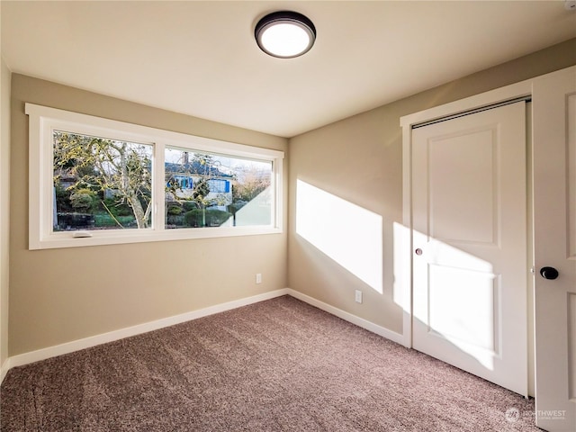
[[[392,228],[394,223],[402,222],[401,116],[575,64],[576,39],[291,139],[288,285],[401,333],[401,308],[393,301],[392,293],[392,270],[398,259],[393,256]],[[298,234],[298,180],[382,216],[383,293],[376,292]],[[338,232],[331,236],[338,241]],[[353,253],[362,257],[365,251]],[[364,292],[363,304],[355,302],[355,290]]]

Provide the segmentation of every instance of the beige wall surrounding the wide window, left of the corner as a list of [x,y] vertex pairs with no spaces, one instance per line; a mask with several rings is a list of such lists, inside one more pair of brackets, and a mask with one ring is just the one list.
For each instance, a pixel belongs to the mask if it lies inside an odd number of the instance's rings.
[[[12,78],[10,356],[286,287],[285,229],[29,251],[26,102],[284,151],[287,139],[28,76]],[[284,173],[287,166],[286,158]],[[255,284],[257,273],[263,284]]]

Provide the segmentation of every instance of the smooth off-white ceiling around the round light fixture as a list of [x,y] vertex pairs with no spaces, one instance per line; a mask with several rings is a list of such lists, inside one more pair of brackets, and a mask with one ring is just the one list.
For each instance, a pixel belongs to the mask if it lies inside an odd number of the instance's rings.
[[[293,137],[576,37],[548,1],[2,1],[15,73]],[[266,56],[254,26],[315,24],[301,58]]]

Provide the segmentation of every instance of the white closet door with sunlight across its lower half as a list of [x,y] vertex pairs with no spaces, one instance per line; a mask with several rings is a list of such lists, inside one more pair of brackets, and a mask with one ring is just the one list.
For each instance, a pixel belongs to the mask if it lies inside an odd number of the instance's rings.
[[524,102],[412,130],[413,347],[523,395],[526,142]]

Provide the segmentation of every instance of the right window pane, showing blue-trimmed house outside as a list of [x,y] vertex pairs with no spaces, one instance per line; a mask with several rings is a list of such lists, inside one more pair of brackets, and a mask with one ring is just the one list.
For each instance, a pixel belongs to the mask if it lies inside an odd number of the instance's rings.
[[166,148],[166,228],[272,223],[272,162]]

